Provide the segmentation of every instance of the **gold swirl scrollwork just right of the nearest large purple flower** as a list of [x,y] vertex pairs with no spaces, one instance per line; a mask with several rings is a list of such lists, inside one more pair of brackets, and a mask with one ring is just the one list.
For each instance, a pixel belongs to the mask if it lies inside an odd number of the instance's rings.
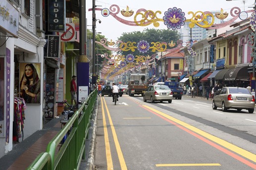
[[[202,27],[202,28],[208,28],[208,27],[212,26],[214,23],[214,16],[212,15],[212,13],[205,14],[202,11],[197,11],[196,13],[189,11],[188,14],[189,15],[192,14],[192,18],[187,19],[185,21],[185,22],[190,22],[189,28],[194,28],[195,25],[198,25],[199,27]],[[211,23],[208,23],[207,16],[211,17]],[[201,23],[203,23],[205,25],[202,25]]]

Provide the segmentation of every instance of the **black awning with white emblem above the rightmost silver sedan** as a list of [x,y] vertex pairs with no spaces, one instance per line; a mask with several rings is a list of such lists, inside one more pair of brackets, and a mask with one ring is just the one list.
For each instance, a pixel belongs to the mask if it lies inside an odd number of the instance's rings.
[[244,66],[229,69],[224,76],[224,81],[249,80],[250,73],[248,72],[248,68],[248,66]]

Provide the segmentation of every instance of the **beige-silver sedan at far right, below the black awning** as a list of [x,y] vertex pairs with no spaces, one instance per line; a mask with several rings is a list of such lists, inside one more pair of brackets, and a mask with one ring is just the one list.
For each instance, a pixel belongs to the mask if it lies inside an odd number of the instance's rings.
[[221,107],[222,111],[235,108],[238,111],[247,109],[249,113],[253,113],[255,97],[247,88],[223,87],[217,92],[212,101],[212,109],[217,109],[217,107]]

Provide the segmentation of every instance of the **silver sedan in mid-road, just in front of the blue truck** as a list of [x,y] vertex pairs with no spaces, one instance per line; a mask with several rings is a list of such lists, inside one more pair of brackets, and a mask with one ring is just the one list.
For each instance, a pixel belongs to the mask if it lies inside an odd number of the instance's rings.
[[143,101],[168,101],[169,103],[172,102],[172,91],[169,89],[168,86],[165,85],[152,85],[149,86],[147,91],[143,95]]

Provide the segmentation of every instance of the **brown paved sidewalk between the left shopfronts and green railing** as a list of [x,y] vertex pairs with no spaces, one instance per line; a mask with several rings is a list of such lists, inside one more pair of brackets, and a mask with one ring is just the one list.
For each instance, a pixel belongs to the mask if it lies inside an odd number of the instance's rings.
[[43,130],[21,141],[0,158],[0,170],[26,170],[41,152],[46,151],[48,143],[60,131],[60,119],[52,119]]

